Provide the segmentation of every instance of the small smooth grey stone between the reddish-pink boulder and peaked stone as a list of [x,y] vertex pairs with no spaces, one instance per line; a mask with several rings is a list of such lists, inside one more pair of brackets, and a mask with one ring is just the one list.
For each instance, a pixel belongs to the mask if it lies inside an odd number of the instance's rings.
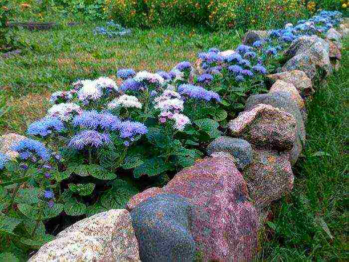
[[240,170],[251,163],[252,147],[243,139],[228,136],[217,137],[208,145],[207,155],[211,156],[217,152],[227,152],[232,155]]

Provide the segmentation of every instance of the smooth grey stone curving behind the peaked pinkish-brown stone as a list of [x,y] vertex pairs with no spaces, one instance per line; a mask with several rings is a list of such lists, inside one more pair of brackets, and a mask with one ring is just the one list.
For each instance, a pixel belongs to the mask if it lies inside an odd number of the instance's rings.
[[299,154],[302,151],[302,143],[305,143],[306,140],[303,116],[299,111],[297,104],[292,100],[289,93],[273,92],[250,96],[246,101],[245,110],[250,110],[258,106],[258,104],[268,104],[273,107],[279,108],[280,110],[292,114],[295,118],[297,122],[296,141],[292,150],[289,152],[291,164],[295,164]]

